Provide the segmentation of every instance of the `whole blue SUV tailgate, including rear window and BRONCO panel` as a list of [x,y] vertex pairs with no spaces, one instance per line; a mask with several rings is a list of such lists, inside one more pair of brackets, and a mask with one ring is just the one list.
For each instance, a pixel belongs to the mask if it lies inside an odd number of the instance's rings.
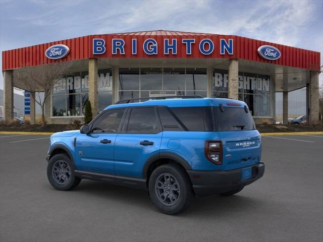
[[223,142],[222,169],[238,169],[260,162],[260,134],[255,130],[246,104],[226,100],[219,107],[213,107],[213,111],[216,130]]

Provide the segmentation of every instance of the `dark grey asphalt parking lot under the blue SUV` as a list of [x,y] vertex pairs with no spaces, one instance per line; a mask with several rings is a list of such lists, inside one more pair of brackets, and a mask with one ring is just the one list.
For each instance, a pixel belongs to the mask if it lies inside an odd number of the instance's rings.
[[46,177],[48,136],[0,135],[0,241],[323,241],[323,136],[262,138],[265,174],[231,197],[158,212],[145,191]]

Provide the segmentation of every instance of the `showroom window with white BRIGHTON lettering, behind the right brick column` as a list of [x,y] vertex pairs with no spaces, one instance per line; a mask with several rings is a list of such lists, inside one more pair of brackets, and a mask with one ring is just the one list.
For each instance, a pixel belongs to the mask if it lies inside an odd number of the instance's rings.
[[[239,72],[238,99],[247,103],[253,116],[271,115],[270,76]],[[228,71],[213,69],[213,95],[228,98]]]

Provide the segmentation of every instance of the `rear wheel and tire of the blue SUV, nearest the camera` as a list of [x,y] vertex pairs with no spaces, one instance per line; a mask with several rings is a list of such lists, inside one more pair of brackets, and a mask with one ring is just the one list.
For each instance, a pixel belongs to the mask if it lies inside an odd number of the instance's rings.
[[170,215],[185,211],[194,197],[187,173],[177,164],[161,165],[154,169],[148,189],[150,199],[157,209]]

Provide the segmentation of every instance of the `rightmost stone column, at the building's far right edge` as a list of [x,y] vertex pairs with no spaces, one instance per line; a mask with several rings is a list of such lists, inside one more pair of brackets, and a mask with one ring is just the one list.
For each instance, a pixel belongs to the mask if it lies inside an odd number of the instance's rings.
[[309,84],[309,120],[308,124],[317,125],[319,122],[319,90],[318,90],[318,74],[319,72],[310,72],[310,84]]

